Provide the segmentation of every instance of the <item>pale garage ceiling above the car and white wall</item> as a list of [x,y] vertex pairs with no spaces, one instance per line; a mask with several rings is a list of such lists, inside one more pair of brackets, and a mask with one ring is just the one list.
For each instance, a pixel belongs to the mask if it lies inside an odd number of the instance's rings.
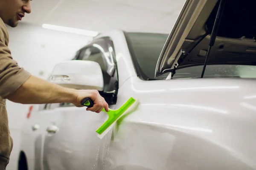
[[32,0],[23,23],[169,33],[185,0]]

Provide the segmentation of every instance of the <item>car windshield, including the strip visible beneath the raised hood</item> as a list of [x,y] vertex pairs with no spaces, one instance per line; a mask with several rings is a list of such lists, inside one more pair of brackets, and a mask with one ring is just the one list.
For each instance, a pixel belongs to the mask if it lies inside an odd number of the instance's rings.
[[[137,73],[143,79],[155,79],[155,68],[158,57],[169,34],[127,33],[129,50]],[[129,44],[130,43],[130,44]],[[137,66],[136,66],[137,65]],[[173,79],[200,78],[203,65],[180,68]],[[157,79],[166,79],[169,73]],[[207,65],[204,77],[256,78],[256,66],[253,65]]]

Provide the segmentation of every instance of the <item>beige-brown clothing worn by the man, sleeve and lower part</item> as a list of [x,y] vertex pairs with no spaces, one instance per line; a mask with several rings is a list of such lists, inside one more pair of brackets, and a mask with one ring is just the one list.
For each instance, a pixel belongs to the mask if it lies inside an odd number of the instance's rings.
[[8,164],[12,151],[6,96],[15,92],[31,75],[12,59],[8,43],[8,30],[0,18],[0,170]]

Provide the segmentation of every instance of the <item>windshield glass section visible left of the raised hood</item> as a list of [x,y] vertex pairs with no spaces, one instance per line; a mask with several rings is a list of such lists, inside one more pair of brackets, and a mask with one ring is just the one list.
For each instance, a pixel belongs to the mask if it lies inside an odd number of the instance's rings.
[[154,79],[158,57],[169,34],[127,33],[129,50],[137,73],[143,79]]

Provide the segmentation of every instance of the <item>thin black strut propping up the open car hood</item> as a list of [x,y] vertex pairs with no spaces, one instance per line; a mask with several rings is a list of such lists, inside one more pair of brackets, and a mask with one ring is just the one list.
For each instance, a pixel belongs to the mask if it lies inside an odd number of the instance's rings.
[[209,54],[210,54],[212,46],[214,45],[216,37],[217,37],[217,32],[218,32],[218,28],[220,26],[221,16],[222,16],[222,13],[223,13],[223,10],[224,10],[225,3],[226,3],[226,0],[221,0],[221,2],[219,4],[219,7],[218,7],[218,12],[216,14],[215,22],[214,22],[214,25],[213,25],[213,28],[212,28],[212,33],[210,35],[209,48],[208,48],[206,59],[205,59],[205,62],[204,62],[204,68],[203,68],[203,71],[202,71],[202,74],[201,74],[201,78],[204,77],[205,68],[206,68],[207,62],[209,60]]

